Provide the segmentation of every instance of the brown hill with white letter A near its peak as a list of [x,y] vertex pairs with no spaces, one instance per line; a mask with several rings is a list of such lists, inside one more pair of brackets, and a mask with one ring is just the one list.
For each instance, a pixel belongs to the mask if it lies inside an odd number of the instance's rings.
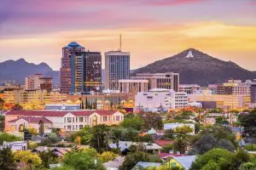
[[194,48],[139,68],[131,76],[137,73],[163,72],[177,72],[180,83],[196,83],[201,86],[224,82],[231,77],[243,81],[256,78],[256,71],[247,71],[236,63],[213,58]]

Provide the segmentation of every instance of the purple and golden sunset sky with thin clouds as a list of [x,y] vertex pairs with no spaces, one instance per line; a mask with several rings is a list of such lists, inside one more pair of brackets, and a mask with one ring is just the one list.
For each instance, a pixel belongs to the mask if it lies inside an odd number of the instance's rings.
[[59,70],[61,48],[79,42],[104,64],[119,34],[131,69],[196,48],[256,71],[256,0],[0,0],[0,62]]

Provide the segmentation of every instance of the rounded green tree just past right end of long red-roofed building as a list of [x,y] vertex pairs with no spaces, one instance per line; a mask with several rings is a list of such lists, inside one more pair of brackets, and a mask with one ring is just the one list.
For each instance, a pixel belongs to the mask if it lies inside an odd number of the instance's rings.
[[142,130],[144,122],[140,116],[127,116],[124,121],[120,123],[121,127],[134,128],[136,130]]

